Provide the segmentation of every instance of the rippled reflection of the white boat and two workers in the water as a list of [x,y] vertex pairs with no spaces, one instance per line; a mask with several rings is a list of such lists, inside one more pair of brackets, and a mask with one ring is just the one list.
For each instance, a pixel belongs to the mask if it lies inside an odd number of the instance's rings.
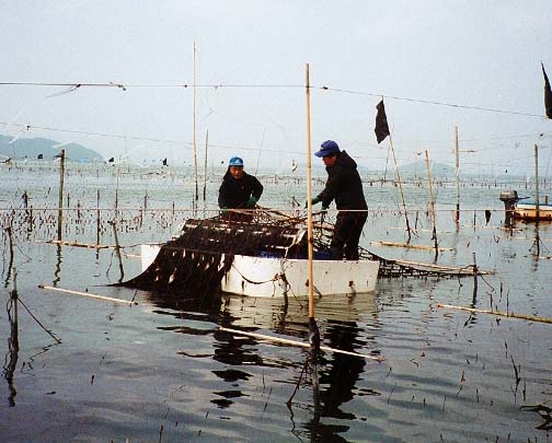
[[[200,316],[202,323],[207,319],[223,327],[241,327],[246,331],[268,329],[277,335],[300,337],[302,340],[309,334],[308,306],[303,300],[290,299],[286,303],[283,299],[242,298],[220,293],[203,294],[200,298],[189,300],[183,298],[182,294],[152,292],[146,292],[146,294],[159,307],[180,311],[177,313],[158,312],[159,314],[172,315],[181,319],[196,317],[199,319]],[[377,320],[375,298],[376,294],[371,293],[318,300],[315,312],[317,317],[320,318],[323,345],[350,352],[363,351],[367,341],[373,338],[366,337],[366,330],[361,329],[358,323],[361,320],[360,323],[366,324],[366,320],[370,322],[370,317],[372,322]],[[256,372],[258,368],[275,365],[274,361],[265,360],[258,352],[258,339],[254,337],[237,336],[218,329],[215,331],[196,330],[191,327],[171,329],[191,335],[212,334],[215,340],[212,359],[229,365],[228,369],[212,371],[212,373],[231,386],[229,389],[212,393],[216,397],[211,403],[219,408],[230,408],[235,399],[246,395],[239,387],[240,383],[250,381],[254,375],[244,371],[243,368],[255,368]],[[308,372],[312,382],[313,413],[311,420],[303,424],[302,432],[307,433],[311,441],[327,439],[340,441],[343,439],[338,434],[346,432],[349,425],[343,422],[335,423],[335,421],[324,422],[324,419],[356,418],[352,412],[344,411],[342,407],[354,398],[356,384],[366,361],[341,353],[323,353],[319,355],[319,359],[315,357],[309,353],[304,366],[310,370]],[[294,374],[290,374],[290,382],[292,377]],[[300,380],[297,385],[300,385]],[[379,395],[379,393],[373,393],[373,395]],[[291,401],[288,406],[292,421]]]

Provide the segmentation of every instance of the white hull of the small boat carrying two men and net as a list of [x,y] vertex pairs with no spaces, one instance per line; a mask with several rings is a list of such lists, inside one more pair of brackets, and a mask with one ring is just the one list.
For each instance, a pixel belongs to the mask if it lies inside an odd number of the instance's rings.
[[[142,271],[156,259],[160,245],[141,245]],[[376,289],[379,261],[314,260],[314,294],[354,294]],[[306,296],[308,260],[235,255],[222,278],[223,292],[263,298]]]

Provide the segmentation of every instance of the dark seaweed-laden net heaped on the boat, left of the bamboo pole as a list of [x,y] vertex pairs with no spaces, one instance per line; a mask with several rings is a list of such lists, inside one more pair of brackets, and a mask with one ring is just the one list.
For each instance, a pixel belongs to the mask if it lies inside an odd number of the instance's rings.
[[267,217],[263,211],[186,220],[148,269],[120,284],[150,291],[214,291],[220,289],[234,255],[307,258],[304,220]]

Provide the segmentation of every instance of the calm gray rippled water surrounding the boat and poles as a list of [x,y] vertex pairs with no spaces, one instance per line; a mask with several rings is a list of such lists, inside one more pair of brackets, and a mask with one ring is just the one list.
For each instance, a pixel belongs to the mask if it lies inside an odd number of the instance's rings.
[[[303,182],[258,175],[266,188],[261,203],[290,209],[296,200],[302,206]],[[192,300],[183,301],[106,285],[139,273],[134,245],[168,240],[193,214],[189,171],[140,176],[70,165],[65,206],[71,210],[64,238],[95,244],[100,237],[100,244],[113,245],[107,221],[115,220],[125,246],[124,276],[113,249],[44,243],[57,233],[57,211],[50,210],[58,202],[55,167],[2,168],[0,179],[2,441],[551,440],[552,325],[437,306],[552,317],[552,225],[539,226],[541,257],[536,258],[533,224],[503,229],[498,195],[507,185],[465,183],[458,230],[451,213],[453,184],[435,188],[444,248],[437,263],[470,265],[475,259],[493,271],[479,278],[476,290],[472,278],[383,279],[371,294],[317,301],[323,345],[386,358],[377,363],[326,352],[317,392],[306,350],[219,330],[225,326],[306,340],[304,300],[291,300],[287,307],[277,300],[220,294],[185,294]],[[209,177],[199,215],[212,214],[219,180],[219,174]],[[317,183],[314,190],[321,186]],[[391,184],[367,182],[365,190],[370,214],[363,245],[384,257],[433,263],[433,252],[376,243],[405,242],[402,200]],[[21,209],[25,191],[33,224]],[[416,182],[406,184],[404,193],[416,229],[412,243],[432,245],[427,189]],[[545,186],[542,193],[552,195]],[[9,273],[9,220],[15,282]],[[14,333],[5,306],[15,283],[24,305],[18,305],[19,350],[10,352]],[[10,362],[12,377],[5,371]]]

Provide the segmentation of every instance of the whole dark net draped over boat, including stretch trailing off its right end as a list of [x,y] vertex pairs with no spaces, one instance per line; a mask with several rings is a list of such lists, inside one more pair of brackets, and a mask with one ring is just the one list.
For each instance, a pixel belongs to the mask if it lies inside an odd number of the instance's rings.
[[[314,259],[329,259],[333,224],[324,221],[324,213],[317,213],[313,228]],[[161,246],[148,269],[120,284],[163,292],[219,290],[235,255],[307,258],[306,218],[263,209],[232,211],[208,219],[188,219],[179,236]],[[378,260],[380,278],[462,277],[476,273],[473,266],[460,268],[392,260],[361,247],[359,257]]]

